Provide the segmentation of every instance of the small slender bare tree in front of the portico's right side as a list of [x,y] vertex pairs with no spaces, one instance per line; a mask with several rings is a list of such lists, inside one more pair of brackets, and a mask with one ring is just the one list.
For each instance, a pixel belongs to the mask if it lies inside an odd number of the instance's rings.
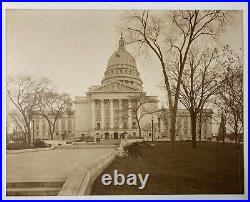
[[132,111],[132,117],[135,117],[138,130],[139,130],[139,137],[142,137],[141,134],[141,120],[148,114],[156,113],[158,110],[152,107],[148,107],[146,105],[158,103],[158,100],[150,96],[146,96],[145,93],[140,93],[138,96],[131,96],[131,99],[134,101],[134,104],[128,106],[128,109]]

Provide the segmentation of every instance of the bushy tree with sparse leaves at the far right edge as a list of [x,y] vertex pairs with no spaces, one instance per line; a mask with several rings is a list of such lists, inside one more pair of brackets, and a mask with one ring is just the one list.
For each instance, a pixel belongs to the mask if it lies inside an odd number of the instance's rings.
[[235,142],[240,142],[239,133],[244,128],[243,117],[243,58],[225,46],[220,58],[224,70],[223,85],[217,93],[216,105],[225,113],[226,128],[235,134]]

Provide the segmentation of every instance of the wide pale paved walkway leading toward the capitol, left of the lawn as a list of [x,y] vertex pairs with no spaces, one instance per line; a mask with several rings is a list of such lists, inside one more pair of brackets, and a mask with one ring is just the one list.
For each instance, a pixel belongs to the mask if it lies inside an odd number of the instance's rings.
[[79,164],[89,166],[113,149],[66,149],[7,154],[7,182],[65,179]]

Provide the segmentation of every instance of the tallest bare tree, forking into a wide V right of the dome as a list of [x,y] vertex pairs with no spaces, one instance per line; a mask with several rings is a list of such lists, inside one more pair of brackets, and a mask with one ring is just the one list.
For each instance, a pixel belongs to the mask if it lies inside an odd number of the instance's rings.
[[[193,43],[199,39],[203,39],[204,37],[216,39],[221,28],[226,23],[225,19],[225,12],[220,10],[171,11],[167,13],[164,21],[161,21],[153,12],[149,11],[128,12],[125,17],[125,33],[130,39],[130,43],[134,43],[140,48],[149,48],[159,60],[171,113],[170,133],[172,151],[174,151],[176,113],[181,81],[189,50]],[[165,36],[163,30],[166,26],[169,26],[166,23],[169,21],[173,30],[171,30],[169,36]],[[164,44],[166,44],[164,41],[168,42],[170,50],[164,47]],[[175,84],[174,93],[167,72],[167,55],[169,51],[175,53],[177,56],[176,63],[178,64],[178,79]],[[172,97],[173,95],[174,97]]]

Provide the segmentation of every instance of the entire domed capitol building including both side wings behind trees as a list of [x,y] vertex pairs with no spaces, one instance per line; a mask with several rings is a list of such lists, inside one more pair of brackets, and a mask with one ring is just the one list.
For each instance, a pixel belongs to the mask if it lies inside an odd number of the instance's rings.
[[[133,109],[144,103],[137,111]],[[135,58],[126,50],[121,36],[117,50],[110,56],[100,85],[90,86],[83,96],[76,96],[74,112],[63,114],[56,122],[54,139],[73,140],[81,137],[122,139],[139,137],[170,139],[168,109],[159,108],[157,96],[146,95]],[[162,113],[164,112],[164,113]],[[204,109],[203,140],[212,138],[212,110]],[[165,114],[165,117],[162,117]],[[137,117],[137,119],[136,119]],[[141,134],[139,134],[138,117]],[[34,138],[50,139],[48,124],[41,116],[34,117]],[[197,123],[197,137],[199,124]],[[15,129],[15,134],[20,134]],[[12,133],[14,134],[14,132]],[[191,140],[189,111],[179,109],[176,140]]]

